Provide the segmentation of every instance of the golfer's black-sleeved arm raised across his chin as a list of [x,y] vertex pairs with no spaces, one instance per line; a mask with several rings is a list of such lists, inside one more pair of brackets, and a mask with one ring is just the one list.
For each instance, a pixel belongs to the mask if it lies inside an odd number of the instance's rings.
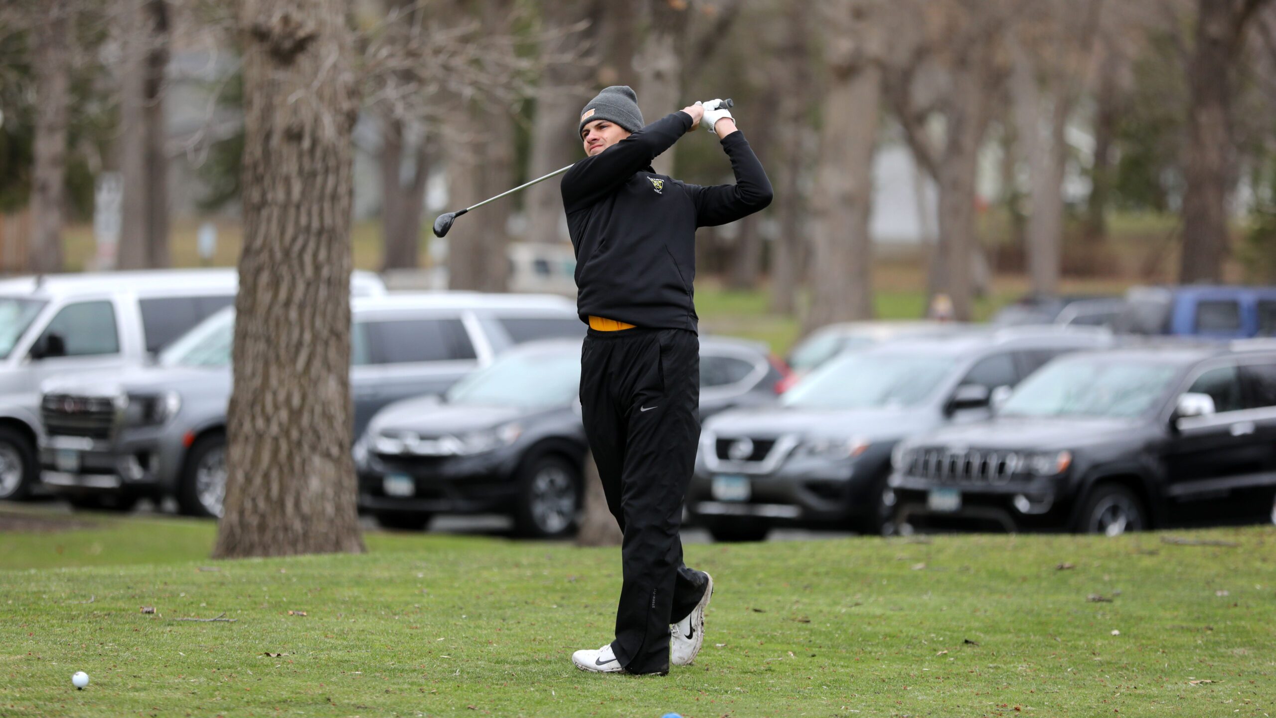
[[[703,112],[703,110],[702,110]],[[563,175],[563,208],[572,212],[593,204],[651,165],[661,152],[695,126],[698,116],[686,110],[651,123],[592,157],[586,157]]]

